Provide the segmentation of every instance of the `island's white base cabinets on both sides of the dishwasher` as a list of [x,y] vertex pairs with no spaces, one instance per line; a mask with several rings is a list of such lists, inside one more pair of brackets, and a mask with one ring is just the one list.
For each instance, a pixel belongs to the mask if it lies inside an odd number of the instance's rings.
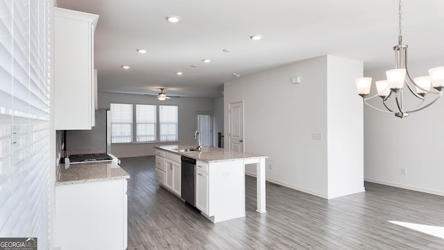
[[[155,156],[157,181],[180,197],[182,191],[180,155],[156,149]],[[164,167],[161,167],[162,164]],[[164,172],[160,170],[161,168]],[[195,178],[196,208],[202,215],[215,223],[245,217],[244,160],[221,160],[210,163],[197,160]]]

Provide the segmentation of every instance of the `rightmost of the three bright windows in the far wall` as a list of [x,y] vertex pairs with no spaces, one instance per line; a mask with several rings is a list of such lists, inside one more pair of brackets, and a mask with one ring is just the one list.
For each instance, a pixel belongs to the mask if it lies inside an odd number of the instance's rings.
[[178,140],[178,106],[159,106],[160,141]]

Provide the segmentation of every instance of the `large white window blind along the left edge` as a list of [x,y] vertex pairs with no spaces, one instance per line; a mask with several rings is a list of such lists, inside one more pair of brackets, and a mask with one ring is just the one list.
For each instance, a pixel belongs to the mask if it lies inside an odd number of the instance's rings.
[[49,249],[49,1],[0,0],[0,237]]

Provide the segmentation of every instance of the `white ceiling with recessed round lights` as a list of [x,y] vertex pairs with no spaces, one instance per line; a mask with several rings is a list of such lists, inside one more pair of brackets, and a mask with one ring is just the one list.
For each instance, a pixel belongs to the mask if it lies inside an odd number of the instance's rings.
[[[100,15],[94,62],[102,92],[221,97],[225,82],[327,54],[389,69],[398,44],[398,0],[56,1]],[[443,0],[402,2],[409,61],[444,59],[443,10]],[[251,40],[255,34],[262,40]]]

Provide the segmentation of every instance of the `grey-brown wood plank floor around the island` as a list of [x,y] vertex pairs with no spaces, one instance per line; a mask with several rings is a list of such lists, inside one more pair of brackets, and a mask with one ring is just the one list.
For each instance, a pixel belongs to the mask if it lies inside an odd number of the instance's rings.
[[[267,213],[255,212],[246,176],[246,217],[213,224],[155,181],[155,157],[121,158],[128,180],[128,250],[444,249],[444,197],[375,183],[336,199],[266,183]],[[443,238],[390,221],[438,226]]]

